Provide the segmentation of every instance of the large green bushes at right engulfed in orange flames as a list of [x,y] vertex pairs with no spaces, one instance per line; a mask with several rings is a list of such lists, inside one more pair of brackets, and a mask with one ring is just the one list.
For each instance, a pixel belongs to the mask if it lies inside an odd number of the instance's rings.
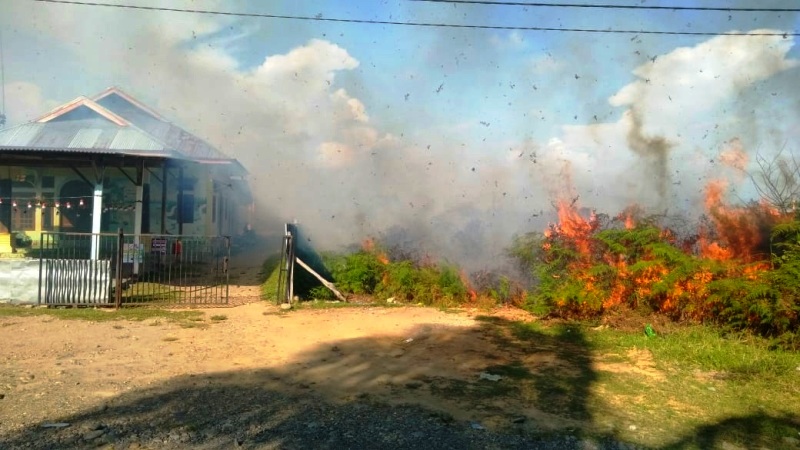
[[[800,222],[776,227],[781,218],[763,208],[713,206],[708,223],[717,226],[681,239],[655,219],[584,217],[561,204],[558,224],[511,249],[537,279],[527,307],[581,318],[625,305],[768,336],[794,333]],[[765,228],[775,228],[772,240],[768,229],[761,237]],[[783,253],[771,270],[761,250],[776,239]]]

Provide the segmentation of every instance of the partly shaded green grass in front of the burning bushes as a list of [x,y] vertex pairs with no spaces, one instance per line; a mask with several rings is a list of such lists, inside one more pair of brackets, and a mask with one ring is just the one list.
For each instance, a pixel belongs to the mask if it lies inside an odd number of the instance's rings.
[[800,354],[766,339],[704,326],[651,338],[579,322],[478,321],[510,353],[484,369],[503,379],[437,394],[517,399],[580,420],[584,435],[647,448],[780,449],[800,439]]

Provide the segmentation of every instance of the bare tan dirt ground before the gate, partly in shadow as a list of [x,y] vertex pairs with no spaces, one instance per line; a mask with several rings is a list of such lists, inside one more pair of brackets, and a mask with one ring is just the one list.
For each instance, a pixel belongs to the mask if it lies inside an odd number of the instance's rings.
[[448,395],[452,384],[440,383],[473,381],[510,357],[474,313],[414,307],[281,313],[263,302],[205,312],[204,326],[193,328],[160,319],[0,319],[0,442],[11,448],[432,442],[530,448],[532,441],[519,435],[546,424],[521,403],[465,403]]

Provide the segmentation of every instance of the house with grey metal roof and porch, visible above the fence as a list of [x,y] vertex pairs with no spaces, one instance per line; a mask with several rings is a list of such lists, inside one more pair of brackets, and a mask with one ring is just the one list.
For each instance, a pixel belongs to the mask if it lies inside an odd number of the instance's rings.
[[246,174],[117,87],[78,97],[0,130],[0,254],[42,232],[235,235]]

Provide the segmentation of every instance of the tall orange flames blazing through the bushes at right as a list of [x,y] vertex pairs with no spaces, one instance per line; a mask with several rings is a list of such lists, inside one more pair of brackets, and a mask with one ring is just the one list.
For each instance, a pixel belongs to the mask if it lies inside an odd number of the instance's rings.
[[[741,159],[734,158],[734,162],[741,163]],[[564,257],[563,253],[551,254],[554,249],[564,247],[574,252],[576,256],[567,262],[566,272],[554,273],[553,280],[565,283],[563,286],[577,282],[581,293],[566,288],[560,294],[564,298],[555,298],[555,304],[581,313],[620,304],[636,306],[644,300],[662,312],[698,320],[713,314],[710,283],[721,276],[752,281],[766,273],[769,264],[763,260],[765,254],[760,248],[768,231],[782,220],[774,208],[764,205],[727,204],[727,190],[727,183],[721,180],[714,180],[706,187],[708,221],[700,226],[696,237],[680,238],[665,227],[659,230],[656,243],[635,251],[626,250],[628,244],[622,247],[602,244],[596,236],[600,223],[594,214],[581,215],[575,201],[559,202],[556,206],[559,221],[545,230],[542,250],[548,257],[552,255],[553,261]],[[643,215],[642,208],[629,206],[616,216],[615,222],[627,230],[635,230],[637,218]],[[636,239],[646,239],[642,236],[646,235],[631,234],[628,239],[631,245],[636,245]],[[692,267],[692,271],[676,276],[675,260],[663,256],[658,241],[700,260],[692,263],[695,265],[681,266]]]

